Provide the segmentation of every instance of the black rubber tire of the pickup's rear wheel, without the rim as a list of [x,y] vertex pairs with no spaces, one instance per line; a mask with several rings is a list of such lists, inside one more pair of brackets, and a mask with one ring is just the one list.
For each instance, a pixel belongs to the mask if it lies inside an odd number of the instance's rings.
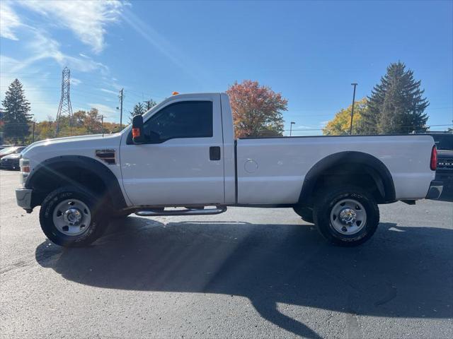
[[[366,222],[362,225],[360,231],[354,234],[342,234],[338,232],[333,227],[331,221],[332,209],[340,206],[341,201],[345,199],[357,201],[365,209]],[[377,225],[379,225],[379,208],[374,196],[360,187],[351,185],[321,191],[315,198],[313,215],[315,225],[323,237],[329,242],[341,246],[357,246],[363,244],[372,237],[377,230]],[[335,212],[333,213],[332,220],[336,220]]]

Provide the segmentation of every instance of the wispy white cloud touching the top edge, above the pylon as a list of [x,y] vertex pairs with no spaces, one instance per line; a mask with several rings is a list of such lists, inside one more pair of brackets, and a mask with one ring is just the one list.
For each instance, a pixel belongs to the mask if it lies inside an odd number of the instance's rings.
[[101,52],[105,47],[105,26],[120,18],[120,1],[21,1],[19,4],[43,16],[64,28],[88,44],[93,52]]

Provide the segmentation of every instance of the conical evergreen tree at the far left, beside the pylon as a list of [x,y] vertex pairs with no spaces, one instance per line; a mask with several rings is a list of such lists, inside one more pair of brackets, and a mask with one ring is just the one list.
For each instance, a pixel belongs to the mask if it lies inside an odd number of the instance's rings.
[[21,81],[14,80],[6,90],[3,105],[4,138],[13,143],[24,143],[30,134],[28,123],[32,117],[30,114],[30,102],[25,99]]

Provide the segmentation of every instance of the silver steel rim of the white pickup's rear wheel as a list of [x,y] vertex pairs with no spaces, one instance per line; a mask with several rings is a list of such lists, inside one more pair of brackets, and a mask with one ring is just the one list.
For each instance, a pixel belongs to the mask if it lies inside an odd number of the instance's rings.
[[367,211],[355,199],[340,200],[331,210],[331,225],[340,234],[355,234],[366,224]]

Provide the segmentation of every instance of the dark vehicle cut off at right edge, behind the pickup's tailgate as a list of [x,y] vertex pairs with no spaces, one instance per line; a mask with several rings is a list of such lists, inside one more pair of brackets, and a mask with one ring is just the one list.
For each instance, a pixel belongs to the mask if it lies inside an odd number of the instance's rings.
[[436,180],[444,183],[439,200],[453,201],[453,133],[427,133],[437,147]]

